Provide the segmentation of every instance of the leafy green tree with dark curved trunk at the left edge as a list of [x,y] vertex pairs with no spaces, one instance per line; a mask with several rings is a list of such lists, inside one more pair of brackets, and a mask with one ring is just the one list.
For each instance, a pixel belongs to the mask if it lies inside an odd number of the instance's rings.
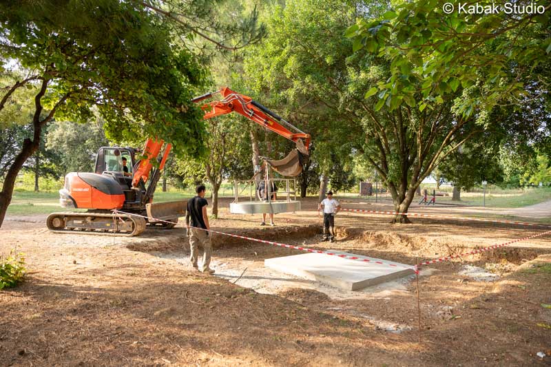
[[96,105],[115,140],[157,136],[179,154],[205,151],[200,111],[190,103],[205,70],[171,43],[164,19],[134,2],[4,1],[0,22],[0,57],[20,74],[3,85],[0,112],[21,88],[37,91],[28,101],[32,138],[0,191],[0,225],[15,178],[54,116],[86,121]]

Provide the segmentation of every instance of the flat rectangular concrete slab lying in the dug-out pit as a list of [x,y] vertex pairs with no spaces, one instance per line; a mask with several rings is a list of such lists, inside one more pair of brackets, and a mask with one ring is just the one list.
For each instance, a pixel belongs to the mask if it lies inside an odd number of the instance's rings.
[[[355,256],[360,259],[368,259],[370,262],[349,260],[337,256],[324,255],[323,253],[304,253],[301,255],[266,259],[264,260],[264,266],[308,280],[329,284],[346,291],[357,291],[367,286],[415,274],[413,269],[404,269],[404,266],[409,265],[400,264],[399,262],[354,255],[353,253],[344,251],[329,251]],[[384,262],[384,264],[376,264],[375,262],[377,261]],[[389,266],[388,264],[395,266]]]

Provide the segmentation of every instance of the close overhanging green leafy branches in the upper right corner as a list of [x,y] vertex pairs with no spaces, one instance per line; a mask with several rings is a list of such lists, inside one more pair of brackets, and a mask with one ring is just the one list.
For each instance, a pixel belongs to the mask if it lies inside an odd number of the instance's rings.
[[[551,53],[550,11],[546,0],[530,3],[539,12],[466,14],[460,3],[446,14],[447,0],[399,1],[381,17],[360,17],[346,30],[353,50],[362,48],[391,62],[391,75],[366,92],[377,94],[382,107],[407,104],[423,110],[447,95],[466,91],[457,111],[472,116],[477,108],[489,111],[503,99],[525,94],[526,76],[549,64]],[[464,3],[468,4],[469,3]],[[491,1],[479,2],[492,5]],[[548,67],[548,66],[546,66]],[[532,83],[547,86],[534,77]],[[421,94],[422,98],[416,98]]]

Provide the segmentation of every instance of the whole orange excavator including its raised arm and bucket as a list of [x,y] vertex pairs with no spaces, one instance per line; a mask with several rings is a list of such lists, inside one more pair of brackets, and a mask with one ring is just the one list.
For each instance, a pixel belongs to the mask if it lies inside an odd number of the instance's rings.
[[[192,101],[198,103],[218,93],[224,97],[222,101],[202,105],[205,119],[238,112],[293,141],[296,149],[286,158],[267,160],[267,163],[284,176],[300,174],[304,158],[308,156],[309,134],[252,98],[227,87]],[[65,176],[63,189],[59,190],[62,207],[87,211],[52,213],[46,220],[48,229],[56,233],[132,236],[142,233],[147,225],[174,227],[178,218],[185,215],[187,200],[153,203],[160,172],[165,167],[170,149],[169,143],[152,138],[147,140],[143,151],[129,147],[101,147],[94,173],[71,172]],[[138,153],[143,159],[136,160]],[[115,210],[125,213],[116,213],[115,216]]]

